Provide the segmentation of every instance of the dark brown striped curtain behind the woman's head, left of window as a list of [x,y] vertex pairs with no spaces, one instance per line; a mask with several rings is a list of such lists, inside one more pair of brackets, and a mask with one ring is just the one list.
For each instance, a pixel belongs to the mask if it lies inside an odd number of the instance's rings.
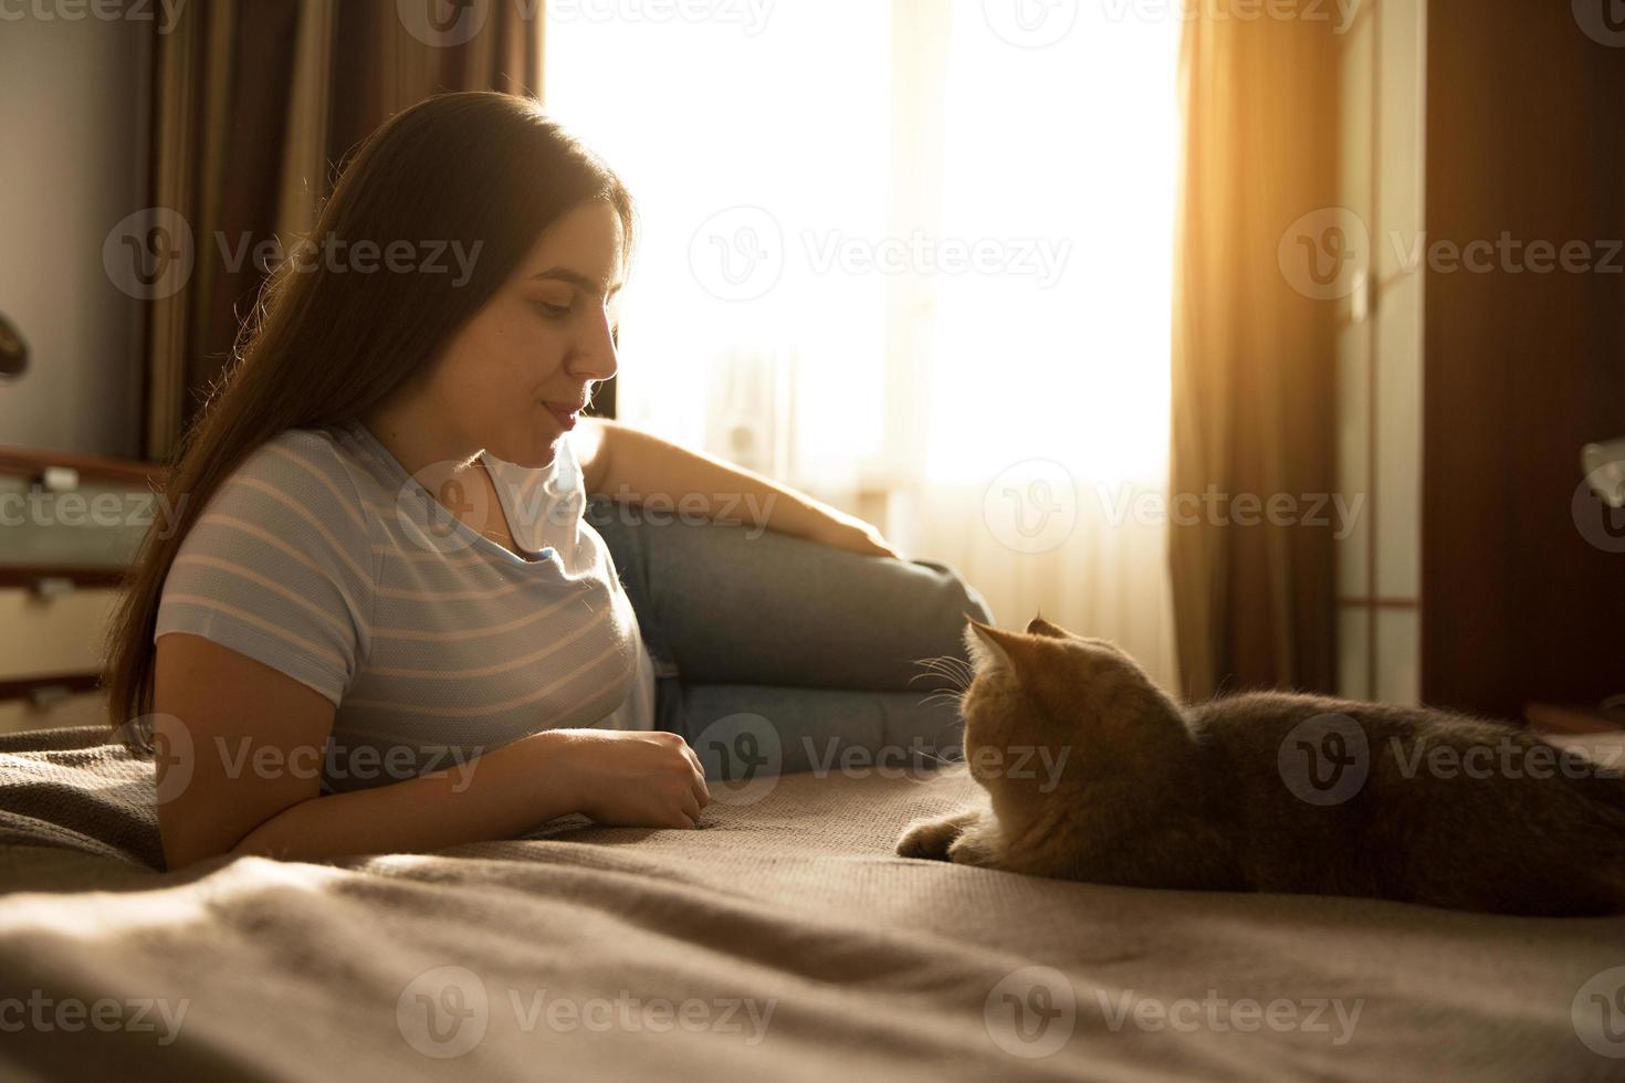
[[392,114],[447,91],[538,96],[541,10],[210,0],[154,36],[151,203],[188,227],[193,265],[150,304],[150,458],[167,458],[226,365],[263,279],[255,245],[309,231],[344,154]]

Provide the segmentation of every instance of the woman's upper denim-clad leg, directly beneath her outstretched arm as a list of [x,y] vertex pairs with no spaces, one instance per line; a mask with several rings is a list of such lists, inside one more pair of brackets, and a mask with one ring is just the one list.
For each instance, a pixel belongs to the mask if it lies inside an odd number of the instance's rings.
[[982,596],[942,563],[892,560],[739,524],[653,521],[598,498],[609,547],[661,675],[684,684],[920,692],[926,658],[965,658]]

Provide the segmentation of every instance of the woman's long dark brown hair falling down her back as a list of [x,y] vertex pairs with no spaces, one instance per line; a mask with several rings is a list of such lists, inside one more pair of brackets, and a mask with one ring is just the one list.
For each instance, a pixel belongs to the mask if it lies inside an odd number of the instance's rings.
[[[107,632],[114,729],[151,710],[164,578],[221,482],[283,430],[354,417],[424,370],[541,234],[595,200],[619,213],[630,252],[632,200],[619,177],[526,97],[431,97],[361,146],[306,240],[367,240],[380,252],[406,242],[414,266],[392,273],[377,260],[374,273],[333,273],[325,258],[284,258],[266,278],[231,367],[171,458],[172,518],[148,529]],[[466,283],[448,252],[429,271],[434,247],[453,242],[478,252]]]

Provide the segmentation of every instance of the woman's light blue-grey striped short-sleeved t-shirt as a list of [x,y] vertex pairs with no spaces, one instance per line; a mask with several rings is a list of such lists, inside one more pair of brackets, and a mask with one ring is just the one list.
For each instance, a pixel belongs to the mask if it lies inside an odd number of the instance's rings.
[[569,434],[544,469],[483,458],[528,560],[452,515],[359,421],[289,429],[187,533],[154,640],[200,635],[332,700],[330,791],[543,729],[652,729],[653,666],[582,516]]

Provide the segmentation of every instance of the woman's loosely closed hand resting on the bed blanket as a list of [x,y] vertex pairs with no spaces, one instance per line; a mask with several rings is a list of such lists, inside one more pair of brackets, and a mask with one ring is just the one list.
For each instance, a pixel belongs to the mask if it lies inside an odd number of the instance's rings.
[[705,770],[678,734],[561,729],[575,807],[604,826],[692,828],[710,804]]

